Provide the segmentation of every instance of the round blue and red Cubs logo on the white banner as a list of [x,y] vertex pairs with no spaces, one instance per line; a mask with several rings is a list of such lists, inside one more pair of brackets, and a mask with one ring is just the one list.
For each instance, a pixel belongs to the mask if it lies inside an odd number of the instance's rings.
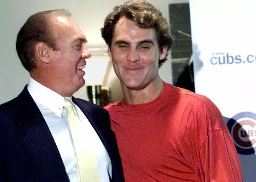
[[238,154],[251,155],[256,151],[256,114],[241,112],[227,123]]

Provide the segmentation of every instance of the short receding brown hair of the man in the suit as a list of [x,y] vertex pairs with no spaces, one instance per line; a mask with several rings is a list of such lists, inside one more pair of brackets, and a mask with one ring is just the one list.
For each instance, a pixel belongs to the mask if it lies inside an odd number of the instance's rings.
[[56,38],[52,32],[51,16],[60,15],[70,17],[71,13],[65,9],[49,10],[31,15],[21,27],[16,40],[16,51],[23,67],[31,71],[36,68],[34,47],[37,42],[44,42],[53,50],[57,50]]

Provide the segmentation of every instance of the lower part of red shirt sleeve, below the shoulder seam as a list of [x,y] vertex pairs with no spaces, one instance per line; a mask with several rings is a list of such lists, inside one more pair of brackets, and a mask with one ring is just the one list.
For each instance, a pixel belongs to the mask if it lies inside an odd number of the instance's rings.
[[200,147],[202,181],[242,182],[243,174],[233,140],[227,131],[212,130]]

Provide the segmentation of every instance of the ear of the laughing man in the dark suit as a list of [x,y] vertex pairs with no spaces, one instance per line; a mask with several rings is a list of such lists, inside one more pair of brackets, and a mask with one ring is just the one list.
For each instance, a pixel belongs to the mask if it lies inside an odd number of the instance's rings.
[[35,55],[42,62],[49,64],[51,62],[52,49],[43,42],[38,42],[35,47]]

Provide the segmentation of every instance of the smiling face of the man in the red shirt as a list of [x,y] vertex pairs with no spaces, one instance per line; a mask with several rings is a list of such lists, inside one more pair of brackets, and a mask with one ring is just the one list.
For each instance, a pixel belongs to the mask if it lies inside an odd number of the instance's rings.
[[122,17],[114,29],[108,54],[122,87],[141,90],[156,79],[158,61],[165,58],[166,51],[160,51],[153,28],[139,28]]

